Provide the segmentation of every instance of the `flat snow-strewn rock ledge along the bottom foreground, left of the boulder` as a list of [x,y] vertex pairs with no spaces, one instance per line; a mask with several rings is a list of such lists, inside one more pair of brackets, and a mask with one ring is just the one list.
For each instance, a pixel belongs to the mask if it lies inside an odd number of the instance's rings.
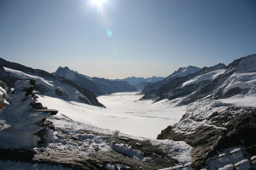
[[[168,153],[163,152],[156,146],[153,146],[149,141],[136,140],[132,138],[106,135],[88,130],[79,130],[79,133],[72,132],[62,134],[60,129],[56,128],[59,140],[66,140],[69,143],[76,143],[78,146],[84,147],[80,151],[76,151],[74,147],[68,149],[49,149],[46,145],[34,149],[0,149],[0,159],[11,161],[24,161],[31,163],[62,165],[66,168],[83,169],[83,170],[98,170],[98,169],[144,169],[157,170],[170,166],[175,166],[177,161],[168,157]],[[80,136],[80,137],[74,137]],[[85,137],[87,136],[87,137]],[[91,143],[98,143],[89,151],[90,144],[85,147],[82,143],[87,141],[83,139],[91,138]],[[108,151],[100,146],[105,140],[109,146]],[[90,139],[89,139],[90,140]],[[89,141],[88,140],[88,141]],[[89,142],[90,143],[90,142]],[[67,145],[66,145],[67,146]]]

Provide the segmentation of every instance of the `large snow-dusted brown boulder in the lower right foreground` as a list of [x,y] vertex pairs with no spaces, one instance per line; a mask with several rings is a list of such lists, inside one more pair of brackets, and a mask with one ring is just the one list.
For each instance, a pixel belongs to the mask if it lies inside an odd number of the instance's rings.
[[[195,170],[218,169],[256,155],[255,132],[256,108],[203,100],[189,105],[182,119],[162,130],[157,139],[182,140],[192,146]],[[235,148],[243,150],[243,156],[223,162],[214,159]]]

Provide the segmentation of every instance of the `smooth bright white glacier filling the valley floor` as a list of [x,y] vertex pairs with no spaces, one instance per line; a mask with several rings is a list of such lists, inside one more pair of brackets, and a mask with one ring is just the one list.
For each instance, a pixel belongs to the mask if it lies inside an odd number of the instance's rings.
[[185,113],[184,106],[172,107],[171,104],[161,102],[152,104],[151,100],[139,101],[142,95],[138,93],[99,96],[99,102],[106,108],[43,95],[38,95],[38,101],[48,108],[59,110],[57,117],[152,139],[156,139],[168,125],[177,123]]

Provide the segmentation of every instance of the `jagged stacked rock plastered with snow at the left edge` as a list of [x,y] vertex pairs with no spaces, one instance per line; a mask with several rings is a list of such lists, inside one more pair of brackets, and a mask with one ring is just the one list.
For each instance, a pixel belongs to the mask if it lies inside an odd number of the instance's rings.
[[0,148],[36,147],[48,138],[54,125],[46,118],[58,110],[47,109],[37,102],[34,80],[21,80],[11,91],[9,105],[0,113]]

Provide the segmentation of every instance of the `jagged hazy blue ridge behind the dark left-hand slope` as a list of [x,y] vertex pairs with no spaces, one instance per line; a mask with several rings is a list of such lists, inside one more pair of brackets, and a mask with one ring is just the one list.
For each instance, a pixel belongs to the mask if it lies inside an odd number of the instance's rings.
[[137,91],[135,87],[126,81],[110,81],[104,78],[89,77],[70,70],[68,67],[59,67],[52,74],[72,80],[77,85],[93,91],[96,96],[125,91]]

